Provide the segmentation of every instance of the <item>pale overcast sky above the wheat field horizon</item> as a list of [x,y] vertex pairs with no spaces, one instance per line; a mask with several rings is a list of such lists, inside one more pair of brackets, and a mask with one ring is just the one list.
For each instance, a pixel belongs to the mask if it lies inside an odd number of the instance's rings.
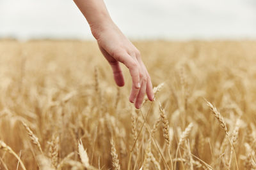
[[[255,0],[105,0],[131,39],[256,39]],[[93,39],[72,0],[0,0],[0,38]]]

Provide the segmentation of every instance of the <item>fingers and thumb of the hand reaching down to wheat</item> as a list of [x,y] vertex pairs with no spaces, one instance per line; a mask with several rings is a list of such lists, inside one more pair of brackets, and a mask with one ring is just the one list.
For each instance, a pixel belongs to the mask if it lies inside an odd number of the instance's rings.
[[152,83],[147,68],[141,60],[140,52],[138,52],[138,50],[133,50],[135,53],[134,55],[131,55],[132,53],[127,53],[120,50],[113,53],[109,52],[111,53],[111,55],[109,55],[106,50],[104,50],[101,46],[99,47],[100,51],[103,53],[104,57],[106,57],[110,66],[112,67],[115,82],[120,87],[124,86],[124,76],[122,74],[119,62],[122,62],[126,67],[128,67],[132,78],[132,89],[129,101],[134,103],[134,106],[137,109],[140,109],[146,93],[148,99],[153,101],[154,93]]

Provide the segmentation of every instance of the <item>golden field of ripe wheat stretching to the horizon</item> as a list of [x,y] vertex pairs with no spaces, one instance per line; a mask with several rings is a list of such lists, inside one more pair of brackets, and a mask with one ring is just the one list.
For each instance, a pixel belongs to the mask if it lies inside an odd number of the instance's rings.
[[256,169],[256,42],[138,41],[129,103],[91,41],[0,41],[0,169]]

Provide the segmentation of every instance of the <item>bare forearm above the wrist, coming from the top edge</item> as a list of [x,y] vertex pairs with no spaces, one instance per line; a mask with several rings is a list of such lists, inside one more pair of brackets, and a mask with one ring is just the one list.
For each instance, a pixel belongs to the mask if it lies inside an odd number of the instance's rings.
[[95,30],[104,29],[105,25],[113,23],[103,0],[74,0],[79,10],[83,13],[93,36]]

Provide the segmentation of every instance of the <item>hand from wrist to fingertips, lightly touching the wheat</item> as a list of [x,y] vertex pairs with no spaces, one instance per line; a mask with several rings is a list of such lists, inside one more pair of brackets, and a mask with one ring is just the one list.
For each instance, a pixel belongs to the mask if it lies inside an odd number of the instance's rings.
[[93,36],[97,39],[100,51],[113,69],[115,82],[124,86],[124,76],[119,62],[122,62],[132,77],[132,90],[129,101],[140,108],[145,93],[153,101],[154,93],[148,71],[141,60],[139,50],[132,45],[113,22],[99,26],[90,25]]

